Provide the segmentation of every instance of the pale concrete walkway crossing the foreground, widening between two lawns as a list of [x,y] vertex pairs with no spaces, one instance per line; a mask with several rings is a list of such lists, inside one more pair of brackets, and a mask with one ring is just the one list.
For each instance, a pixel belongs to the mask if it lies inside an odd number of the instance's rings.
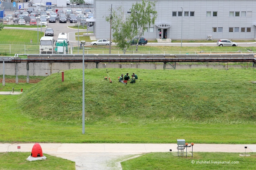
[[[33,144],[0,144],[0,152],[31,152]],[[148,152],[177,152],[177,144],[40,144],[43,153],[76,162],[76,170],[121,170],[121,162]],[[17,149],[20,146],[20,149]],[[256,144],[195,144],[193,152],[256,152]],[[191,152],[192,148],[188,148]],[[29,156],[29,155],[28,155]]]

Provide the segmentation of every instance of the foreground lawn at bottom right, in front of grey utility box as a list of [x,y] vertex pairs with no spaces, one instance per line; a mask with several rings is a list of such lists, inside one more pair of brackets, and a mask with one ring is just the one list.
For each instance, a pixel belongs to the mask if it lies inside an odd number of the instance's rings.
[[121,165],[123,170],[256,169],[255,153],[246,153],[251,155],[249,157],[239,156],[239,154],[241,153],[194,152],[193,158],[191,156],[186,158],[178,157],[177,152],[148,153],[121,162]]

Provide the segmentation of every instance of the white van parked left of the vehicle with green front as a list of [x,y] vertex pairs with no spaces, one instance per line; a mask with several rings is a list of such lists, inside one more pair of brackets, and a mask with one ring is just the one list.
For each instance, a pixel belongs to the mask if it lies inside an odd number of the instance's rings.
[[40,39],[40,54],[53,54],[54,40],[53,37],[42,37]]

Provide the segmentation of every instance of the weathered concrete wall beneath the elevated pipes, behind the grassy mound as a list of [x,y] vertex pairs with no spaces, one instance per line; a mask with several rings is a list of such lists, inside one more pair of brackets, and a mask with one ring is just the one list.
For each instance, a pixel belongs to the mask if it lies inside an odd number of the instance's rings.
[[[27,63],[18,63],[18,75],[27,75]],[[136,64],[120,64],[120,63],[99,63],[99,69],[102,68],[122,68],[122,69],[148,69],[148,70],[162,70],[164,68],[164,64],[162,63],[136,63]],[[242,66],[228,66],[228,68],[243,68]],[[70,69],[82,69],[83,63],[29,63],[29,76],[48,76],[53,73],[57,73],[60,70],[70,70]],[[85,69],[94,69],[96,68],[96,63],[85,63]],[[204,68],[212,68],[212,69],[225,69],[224,65],[183,65],[176,64],[176,70],[185,70],[185,69],[204,69]],[[166,69],[173,69],[173,67],[169,64],[166,64]],[[14,63],[0,63],[0,75],[3,75],[3,71],[5,75],[16,75],[16,66]]]

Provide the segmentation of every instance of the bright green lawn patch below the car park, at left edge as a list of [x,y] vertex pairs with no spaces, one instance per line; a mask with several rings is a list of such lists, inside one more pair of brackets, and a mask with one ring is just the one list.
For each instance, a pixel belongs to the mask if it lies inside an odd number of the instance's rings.
[[[44,36],[44,31],[38,31],[38,37],[39,40],[41,37]],[[36,42],[37,40],[37,30],[21,30],[21,29],[2,29],[0,31],[0,43],[1,42],[10,42],[11,44],[15,43],[18,44],[18,42],[26,42],[29,43],[32,39],[33,42]],[[22,44],[22,43],[21,43]],[[24,45],[24,44],[23,44]]]

